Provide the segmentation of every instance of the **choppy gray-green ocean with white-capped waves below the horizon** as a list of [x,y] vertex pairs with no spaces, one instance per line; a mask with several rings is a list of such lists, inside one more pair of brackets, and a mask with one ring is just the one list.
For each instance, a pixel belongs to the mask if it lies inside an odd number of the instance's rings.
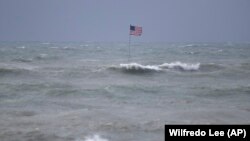
[[162,141],[249,124],[250,43],[0,42],[1,141]]

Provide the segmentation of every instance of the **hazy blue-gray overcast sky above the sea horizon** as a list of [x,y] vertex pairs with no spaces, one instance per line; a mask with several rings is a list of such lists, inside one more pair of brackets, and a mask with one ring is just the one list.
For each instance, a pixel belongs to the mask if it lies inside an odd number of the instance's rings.
[[250,0],[0,0],[0,41],[249,42]]

